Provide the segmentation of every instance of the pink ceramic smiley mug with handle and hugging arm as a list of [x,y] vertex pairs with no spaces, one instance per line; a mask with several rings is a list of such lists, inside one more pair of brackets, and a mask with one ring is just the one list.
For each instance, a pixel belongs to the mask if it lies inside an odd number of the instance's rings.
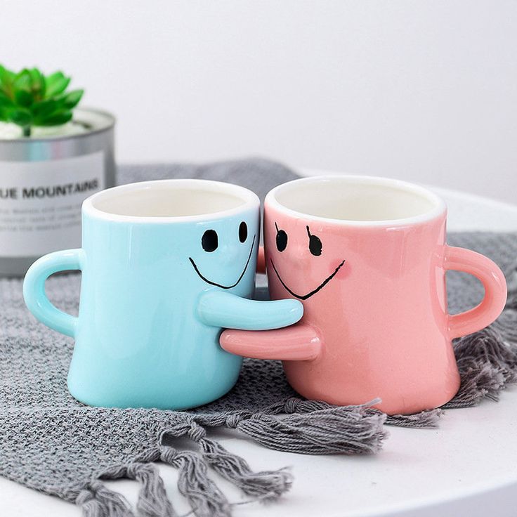
[[[265,248],[272,299],[303,303],[301,322],[272,332],[228,330],[225,350],[284,360],[301,395],[368,403],[388,414],[443,405],[459,389],[452,339],[490,325],[506,282],[489,258],[445,244],[445,203],[386,178],[303,178],[269,192]],[[447,312],[445,271],[471,273],[485,298]]]

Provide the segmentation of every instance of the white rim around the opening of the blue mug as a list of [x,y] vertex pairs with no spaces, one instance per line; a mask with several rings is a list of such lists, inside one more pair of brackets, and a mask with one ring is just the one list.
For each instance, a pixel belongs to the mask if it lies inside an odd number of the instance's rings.
[[[233,195],[239,197],[242,200],[242,204],[237,207],[207,212],[205,214],[195,214],[190,216],[133,216],[133,215],[122,215],[113,214],[105,210],[101,210],[94,206],[96,201],[108,198],[117,193],[121,192],[134,192],[135,190],[148,190],[155,187],[168,187],[174,185],[181,185],[183,188],[199,188],[199,185],[212,190],[213,192],[223,192],[227,195]],[[181,223],[181,222],[202,222],[208,221],[214,218],[221,217],[232,217],[241,214],[242,211],[249,209],[249,207],[260,207],[260,199],[255,192],[248,188],[235,185],[233,183],[227,183],[225,181],[206,180],[203,178],[169,178],[164,180],[149,180],[149,181],[136,181],[133,183],[126,183],[124,185],[117,185],[112,188],[100,190],[95,194],[84,199],[81,207],[83,215],[87,215],[91,218],[103,219],[106,221],[117,221],[121,223]]]

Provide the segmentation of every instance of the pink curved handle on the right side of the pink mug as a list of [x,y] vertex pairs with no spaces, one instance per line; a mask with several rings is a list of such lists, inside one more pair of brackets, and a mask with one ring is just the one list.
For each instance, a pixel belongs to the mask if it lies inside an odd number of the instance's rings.
[[506,280],[497,264],[476,251],[445,245],[444,268],[470,273],[485,287],[485,297],[478,306],[449,315],[451,339],[478,332],[494,322],[506,304]]

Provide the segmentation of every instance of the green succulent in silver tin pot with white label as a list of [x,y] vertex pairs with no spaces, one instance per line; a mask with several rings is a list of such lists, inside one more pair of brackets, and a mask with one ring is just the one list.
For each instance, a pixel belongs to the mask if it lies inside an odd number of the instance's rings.
[[63,72],[0,65],[0,276],[81,245],[81,203],[114,185],[114,117]]

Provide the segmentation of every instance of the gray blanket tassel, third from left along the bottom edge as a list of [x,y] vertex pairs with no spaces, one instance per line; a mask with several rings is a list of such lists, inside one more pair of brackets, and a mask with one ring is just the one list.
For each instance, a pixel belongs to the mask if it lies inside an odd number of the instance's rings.
[[191,451],[178,452],[162,447],[162,462],[179,469],[178,490],[186,497],[197,517],[230,517],[230,504],[207,475],[207,463]]

